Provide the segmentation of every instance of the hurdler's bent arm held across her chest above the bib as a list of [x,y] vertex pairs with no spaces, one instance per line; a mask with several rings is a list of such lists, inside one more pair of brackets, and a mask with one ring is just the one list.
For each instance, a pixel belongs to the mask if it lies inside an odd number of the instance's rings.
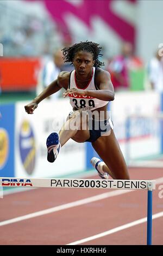
[[114,100],[114,87],[112,85],[109,72],[103,69],[99,69],[96,76],[96,85],[99,88],[99,90],[85,90],[85,95],[109,102],[111,100]]

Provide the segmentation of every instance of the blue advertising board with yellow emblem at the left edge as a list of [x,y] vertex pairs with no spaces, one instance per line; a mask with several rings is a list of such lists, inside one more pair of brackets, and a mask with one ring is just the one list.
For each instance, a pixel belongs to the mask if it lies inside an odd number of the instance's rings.
[[0,177],[14,177],[15,105],[1,105],[0,112]]

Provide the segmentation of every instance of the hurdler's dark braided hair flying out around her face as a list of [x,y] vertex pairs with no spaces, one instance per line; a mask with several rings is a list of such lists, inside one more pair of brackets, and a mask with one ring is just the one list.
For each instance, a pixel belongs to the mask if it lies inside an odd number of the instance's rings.
[[71,62],[73,65],[73,58],[76,52],[78,51],[86,51],[90,52],[93,55],[93,61],[95,61],[94,67],[101,67],[104,65],[103,62],[99,61],[98,57],[103,56],[101,52],[102,47],[99,47],[99,44],[93,43],[92,41],[85,41],[78,44],[73,44],[70,47],[65,47],[62,49],[62,53],[64,55],[65,62]]

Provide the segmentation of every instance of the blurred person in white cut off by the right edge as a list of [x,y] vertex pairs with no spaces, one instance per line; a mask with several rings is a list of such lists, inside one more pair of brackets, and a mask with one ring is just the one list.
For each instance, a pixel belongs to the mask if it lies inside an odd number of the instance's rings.
[[163,57],[159,50],[148,64],[148,78],[153,90],[163,92]]

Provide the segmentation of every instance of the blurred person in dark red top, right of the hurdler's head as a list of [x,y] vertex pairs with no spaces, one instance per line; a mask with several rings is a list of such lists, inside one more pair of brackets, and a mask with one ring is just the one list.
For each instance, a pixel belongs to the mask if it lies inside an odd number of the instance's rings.
[[124,43],[121,55],[113,58],[108,67],[115,91],[128,90],[130,87],[130,70],[136,70],[140,67],[142,67],[142,61],[134,56],[133,46],[130,43]]

